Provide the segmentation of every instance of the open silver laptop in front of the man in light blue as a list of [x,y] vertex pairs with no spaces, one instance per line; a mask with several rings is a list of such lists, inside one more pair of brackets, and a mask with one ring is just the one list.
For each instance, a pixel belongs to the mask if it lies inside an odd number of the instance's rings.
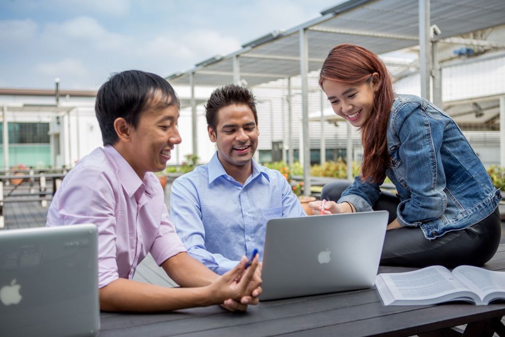
[[386,211],[268,221],[260,300],[372,287],[387,221]]

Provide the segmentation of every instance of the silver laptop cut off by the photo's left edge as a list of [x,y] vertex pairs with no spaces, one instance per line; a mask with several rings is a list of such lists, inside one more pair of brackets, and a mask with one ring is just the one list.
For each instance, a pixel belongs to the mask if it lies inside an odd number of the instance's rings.
[[0,231],[0,335],[98,334],[91,224]]

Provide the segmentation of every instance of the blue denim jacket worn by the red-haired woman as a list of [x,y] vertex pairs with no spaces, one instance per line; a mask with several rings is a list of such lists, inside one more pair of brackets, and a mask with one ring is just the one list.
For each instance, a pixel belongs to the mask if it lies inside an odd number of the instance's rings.
[[[501,199],[458,125],[425,99],[396,95],[387,148],[391,163],[386,175],[400,198],[397,220],[421,227],[428,239],[483,220]],[[371,211],[381,183],[356,177],[338,202]]]

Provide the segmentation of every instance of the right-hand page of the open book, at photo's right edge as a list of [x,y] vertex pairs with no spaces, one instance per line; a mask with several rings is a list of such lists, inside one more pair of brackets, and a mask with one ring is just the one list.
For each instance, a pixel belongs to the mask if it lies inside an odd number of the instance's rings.
[[505,291],[505,272],[474,266],[459,266],[452,273],[477,293],[480,298],[496,291]]

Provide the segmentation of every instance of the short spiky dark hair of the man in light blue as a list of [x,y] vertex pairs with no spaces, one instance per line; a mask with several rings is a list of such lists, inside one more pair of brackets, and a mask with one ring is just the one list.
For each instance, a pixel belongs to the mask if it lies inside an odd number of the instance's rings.
[[239,85],[230,84],[217,88],[205,105],[207,125],[214,131],[218,124],[218,111],[232,104],[244,104],[252,110],[256,125],[258,125],[258,112],[256,111],[256,98],[252,92]]

